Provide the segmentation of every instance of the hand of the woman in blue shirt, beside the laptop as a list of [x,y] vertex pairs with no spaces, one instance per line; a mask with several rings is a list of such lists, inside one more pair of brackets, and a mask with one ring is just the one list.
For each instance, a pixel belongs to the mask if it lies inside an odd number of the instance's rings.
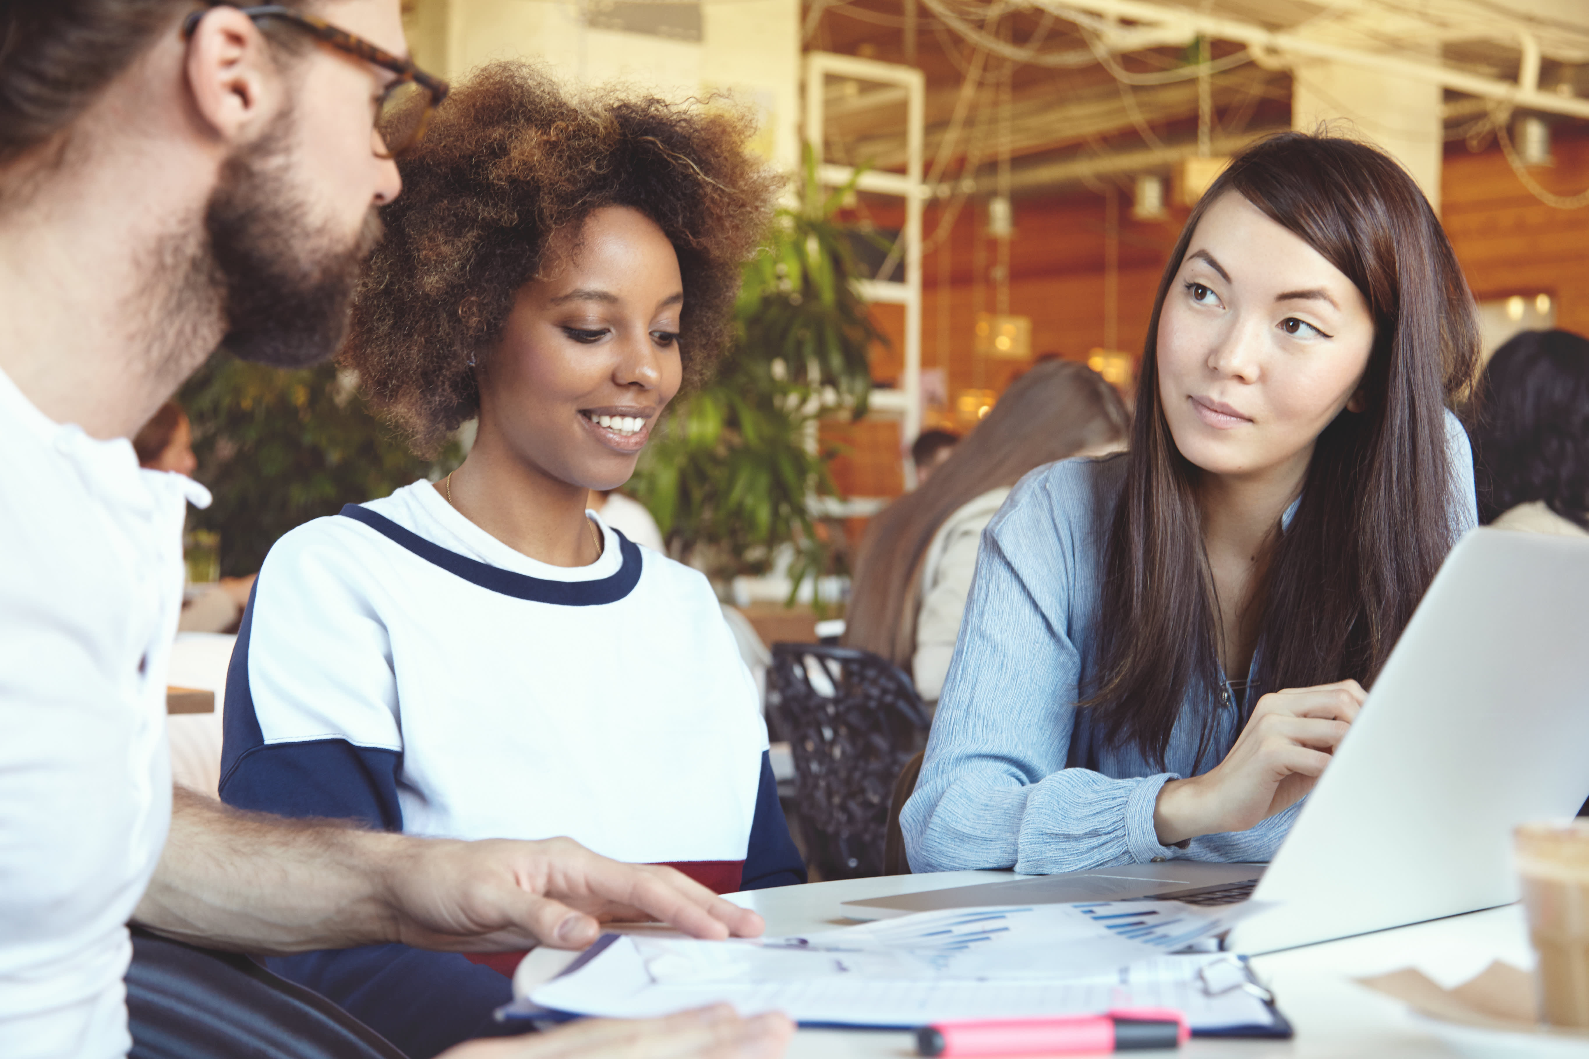
[[1247,830],[1300,802],[1357,719],[1368,692],[1355,680],[1287,687],[1258,699],[1225,761],[1201,776],[1171,780],[1154,805],[1158,841]]

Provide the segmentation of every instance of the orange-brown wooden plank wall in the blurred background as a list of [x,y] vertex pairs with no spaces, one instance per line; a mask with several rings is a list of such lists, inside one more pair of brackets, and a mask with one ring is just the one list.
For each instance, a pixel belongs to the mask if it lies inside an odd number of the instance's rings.
[[[1530,170],[1540,183],[1564,195],[1589,187],[1589,130],[1557,125],[1554,154],[1554,167]],[[1446,232],[1476,297],[1546,292],[1556,298],[1559,327],[1589,333],[1589,208],[1546,206],[1517,181],[1494,144],[1478,154],[1462,143],[1448,148],[1441,197]],[[899,224],[898,208],[885,202],[868,205],[868,216],[876,224]],[[1154,292],[1185,211],[1158,222],[1138,222],[1130,218],[1130,195],[1123,191],[1119,206],[1115,346],[1139,352]],[[1090,349],[1106,345],[1104,210],[1104,197],[1092,191],[1015,200],[1009,310],[1031,318],[1034,354],[1085,359]],[[980,213],[963,210],[950,237],[923,262],[922,365],[947,368],[950,400],[963,389],[1003,391],[1014,375],[1030,367],[972,352],[977,308],[995,310],[993,283],[974,283],[974,243],[982,224]],[[923,227],[928,235],[938,229],[938,206],[926,211]],[[947,291],[939,273],[945,256]],[[995,262],[995,243],[987,240],[982,264],[992,268]],[[949,306],[947,329],[939,321],[944,303]],[[895,306],[877,306],[876,319],[893,338],[895,349],[876,352],[874,378],[893,381],[903,360],[903,314]],[[852,429],[844,437],[855,446],[839,465],[844,481],[853,483],[853,487],[845,484],[849,492],[893,495],[903,487],[903,481],[890,478],[887,470],[899,452],[896,426]],[[890,481],[899,483],[891,492],[872,492]]]

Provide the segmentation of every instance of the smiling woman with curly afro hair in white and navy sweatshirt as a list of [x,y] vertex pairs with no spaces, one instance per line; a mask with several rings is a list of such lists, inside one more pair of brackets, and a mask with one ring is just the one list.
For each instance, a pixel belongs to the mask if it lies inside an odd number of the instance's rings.
[[[272,548],[232,657],[226,802],[566,835],[718,892],[804,881],[710,586],[586,510],[728,343],[777,189],[750,132],[720,108],[574,98],[518,64],[437,111],[342,356],[419,451],[478,432],[442,481]],[[474,959],[386,945],[270,967],[429,1056],[510,999],[516,959]]]

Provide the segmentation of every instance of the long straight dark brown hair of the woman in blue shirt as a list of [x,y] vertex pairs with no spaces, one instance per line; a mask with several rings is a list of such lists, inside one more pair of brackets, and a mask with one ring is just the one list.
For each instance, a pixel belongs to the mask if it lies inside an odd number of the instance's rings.
[[1297,511],[1252,595],[1260,689],[1373,683],[1454,541],[1459,468],[1444,410],[1471,387],[1479,352],[1473,297],[1451,243],[1417,184],[1386,154],[1327,133],[1281,133],[1236,157],[1208,189],[1154,298],[1125,489],[1106,545],[1098,676],[1082,703],[1104,743],[1135,746],[1160,767],[1189,691],[1209,703],[1187,718],[1201,729],[1200,762],[1219,710],[1251,707],[1216,705],[1219,605],[1203,551],[1201,472],[1165,421],[1155,346],[1198,222],[1225,194],[1319,251],[1357,286],[1374,321],[1365,408],[1343,411],[1319,435]]

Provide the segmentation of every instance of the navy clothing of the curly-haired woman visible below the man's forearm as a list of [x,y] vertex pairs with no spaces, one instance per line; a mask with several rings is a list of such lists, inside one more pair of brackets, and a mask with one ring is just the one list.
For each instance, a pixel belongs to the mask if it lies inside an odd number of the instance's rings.
[[410,1059],[497,1035],[491,1013],[513,999],[512,981],[489,967],[407,945],[272,956],[265,967],[329,997]]

